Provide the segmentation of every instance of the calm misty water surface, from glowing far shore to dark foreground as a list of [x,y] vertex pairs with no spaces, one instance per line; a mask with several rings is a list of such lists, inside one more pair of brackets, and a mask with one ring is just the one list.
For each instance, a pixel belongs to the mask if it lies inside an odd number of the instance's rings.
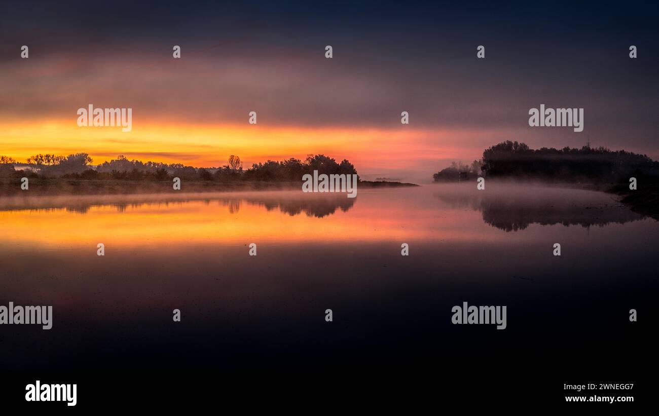
[[[54,315],[51,330],[0,327],[5,369],[436,370],[629,345],[633,365],[648,326],[628,312],[658,288],[659,222],[540,186],[3,198],[0,230],[0,304]],[[507,328],[451,325],[463,301],[507,305]]]

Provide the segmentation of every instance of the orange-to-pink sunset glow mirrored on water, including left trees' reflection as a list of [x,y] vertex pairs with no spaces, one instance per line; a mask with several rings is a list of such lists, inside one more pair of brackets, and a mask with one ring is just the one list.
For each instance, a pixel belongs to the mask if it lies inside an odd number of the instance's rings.
[[0,206],[0,240],[63,248],[484,238],[476,213],[439,210],[432,199],[419,203],[427,194],[415,188],[363,190],[355,199],[299,191],[21,199]]

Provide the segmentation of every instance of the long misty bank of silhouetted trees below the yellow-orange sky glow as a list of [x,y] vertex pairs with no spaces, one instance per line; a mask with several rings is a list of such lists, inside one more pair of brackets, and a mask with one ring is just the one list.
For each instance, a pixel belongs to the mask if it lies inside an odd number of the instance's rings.
[[[326,155],[307,155],[306,159],[291,157],[283,161],[254,163],[243,169],[241,158],[231,155],[226,165],[212,168],[195,168],[181,163],[143,162],[119,156],[100,165],[92,165],[87,153],[67,156],[38,154],[25,163],[0,156],[0,194],[16,194],[16,183],[28,178],[36,186],[36,193],[67,194],[129,194],[134,192],[167,192],[173,178],[185,181],[188,192],[213,190],[243,190],[295,188],[304,174],[357,174],[355,166],[343,159],[341,162]],[[14,183],[16,182],[16,183]],[[359,180],[361,186],[403,186],[399,182],[368,182]]]

